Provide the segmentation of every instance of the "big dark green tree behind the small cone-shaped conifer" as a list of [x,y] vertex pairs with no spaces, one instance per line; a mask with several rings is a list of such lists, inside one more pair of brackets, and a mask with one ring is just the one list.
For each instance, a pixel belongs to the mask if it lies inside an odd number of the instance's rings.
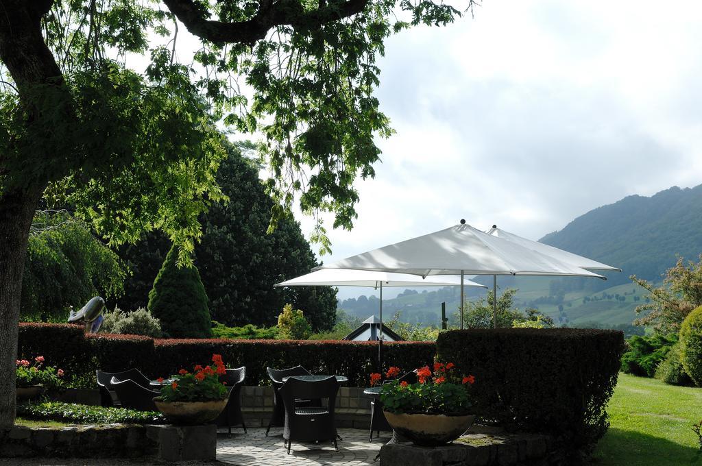
[[[213,204],[201,214],[203,233],[195,246],[195,263],[213,319],[227,326],[272,326],[283,305],[291,302],[303,309],[314,331],[329,330],[336,311],[333,288],[273,288],[280,281],[310,272],[319,263],[291,216],[282,218],[277,229],[267,234],[274,201],[266,194],[253,161],[233,145],[227,145],[227,151],[216,182],[230,201]],[[138,244],[120,249],[133,275],[117,301],[119,307],[146,305],[169,247],[163,234],[152,232]]]

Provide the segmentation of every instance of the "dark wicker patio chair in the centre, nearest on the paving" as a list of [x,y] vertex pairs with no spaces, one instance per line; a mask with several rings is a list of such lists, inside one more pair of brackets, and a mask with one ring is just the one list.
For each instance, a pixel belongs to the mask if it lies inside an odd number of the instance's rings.
[[[288,379],[279,392],[285,406],[285,428],[283,440],[288,447],[288,454],[294,441],[324,441],[334,442],[334,450],[339,451],[336,444],[336,425],[334,423],[334,404],[339,382],[336,377],[306,382],[295,378]],[[299,406],[298,399],[326,399],[325,406]]]

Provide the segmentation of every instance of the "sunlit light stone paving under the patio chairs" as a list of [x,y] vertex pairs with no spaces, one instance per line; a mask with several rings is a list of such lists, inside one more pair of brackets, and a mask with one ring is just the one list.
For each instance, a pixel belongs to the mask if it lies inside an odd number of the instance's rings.
[[380,439],[373,437],[372,442],[368,441],[369,434],[365,429],[340,428],[338,433],[343,438],[337,441],[338,453],[334,451],[331,441],[324,444],[293,442],[289,455],[283,445],[281,429],[272,429],[269,437],[265,437],[262,427],[249,428],[247,434],[234,431],[231,439],[227,434],[219,434],[217,460],[237,466],[371,465],[380,446],[390,440],[390,432],[381,432]]

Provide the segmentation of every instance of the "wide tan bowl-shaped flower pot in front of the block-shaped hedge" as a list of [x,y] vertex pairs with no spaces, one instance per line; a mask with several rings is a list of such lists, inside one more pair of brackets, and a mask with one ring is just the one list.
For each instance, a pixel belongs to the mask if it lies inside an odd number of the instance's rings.
[[475,415],[395,414],[383,411],[390,427],[421,446],[439,446],[458,439]]

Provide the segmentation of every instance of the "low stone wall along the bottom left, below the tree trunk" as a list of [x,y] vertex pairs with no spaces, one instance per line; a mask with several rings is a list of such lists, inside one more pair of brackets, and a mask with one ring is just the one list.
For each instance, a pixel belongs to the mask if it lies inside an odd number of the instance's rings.
[[217,427],[211,425],[15,426],[0,430],[0,458],[140,458],[214,460]]

